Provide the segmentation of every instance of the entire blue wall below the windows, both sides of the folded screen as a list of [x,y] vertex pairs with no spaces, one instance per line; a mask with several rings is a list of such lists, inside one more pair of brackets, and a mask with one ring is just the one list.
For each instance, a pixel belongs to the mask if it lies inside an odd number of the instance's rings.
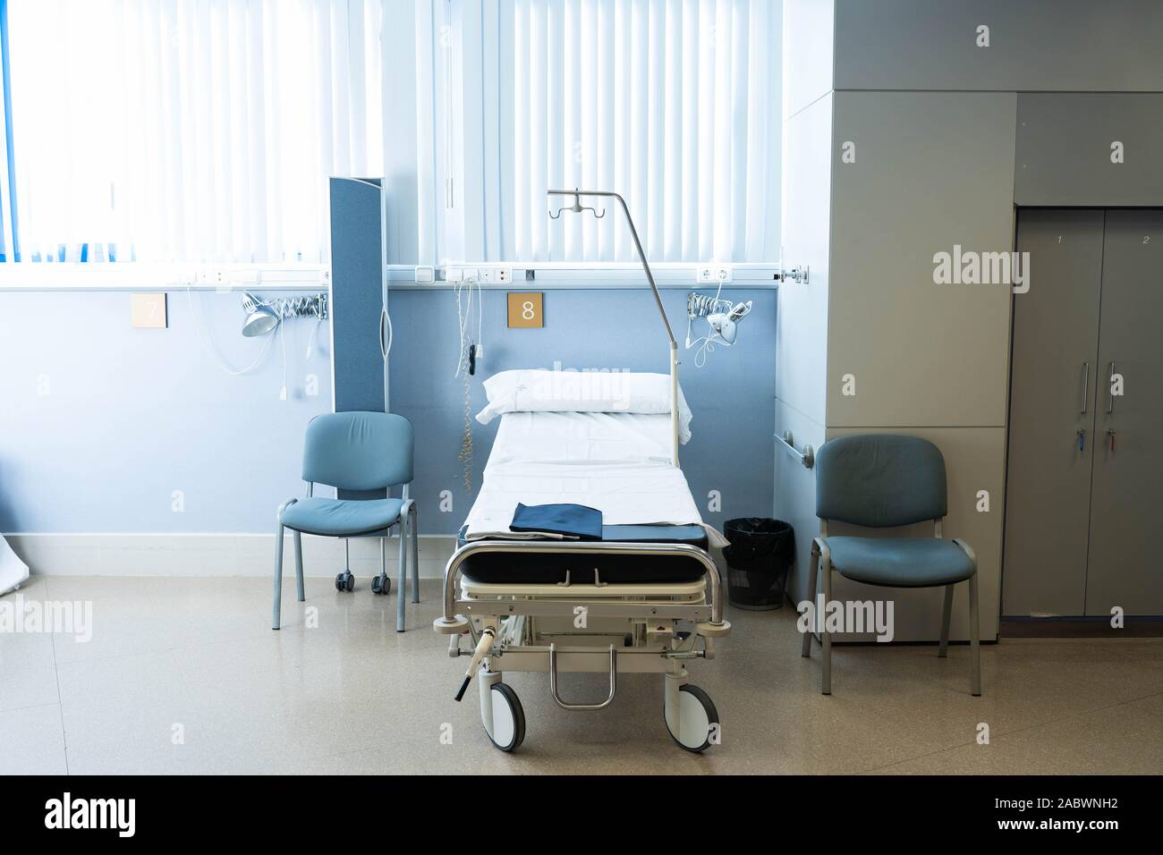
[[[679,339],[685,294],[664,292]],[[694,412],[683,468],[705,519],[716,523],[772,506],[776,294],[730,294],[755,300],[739,344],[716,350],[702,369],[693,351],[680,350]],[[193,300],[222,357],[235,368],[249,364],[262,342],[240,334],[240,294],[195,292]],[[464,411],[452,378],[455,297],[393,291],[391,308],[391,404],[416,426],[421,528],[452,533],[473,498],[457,461]],[[644,288],[547,291],[543,329],[507,329],[504,292],[486,292],[485,308],[473,414],[485,402],[480,382],[504,369],[551,368],[557,359],[566,368],[666,370]],[[0,532],[265,533],[278,504],[301,494],[304,428],[331,405],[326,325],[309,361],[312,322],[287,325],[288,400],[280,401],[278,341],[256,371],[230,377],[199,343],[185,292],[170,294],[169,313],[169,329],[133,329],[128,293],[0,292]],[[317,379],[316,397],[305,393],[308,375]],[[38,394],[42,377],[48,394]],[[475,486],[495,430],[495,422],[473,421]],[[171,510],[174,490],[185,493],[181,513]],[[442,490],[452,491],[449,513],[440,512]],[[707,512],[709,490],[722,492],[721,513]]]

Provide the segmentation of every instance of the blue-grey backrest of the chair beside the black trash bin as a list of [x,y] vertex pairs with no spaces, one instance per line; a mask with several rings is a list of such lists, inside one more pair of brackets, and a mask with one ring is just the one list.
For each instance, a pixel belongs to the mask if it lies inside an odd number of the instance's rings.
[[815,515],[885,528],[949,511],[944,457],[928,440],[865,434],[829,440],[815,455]]

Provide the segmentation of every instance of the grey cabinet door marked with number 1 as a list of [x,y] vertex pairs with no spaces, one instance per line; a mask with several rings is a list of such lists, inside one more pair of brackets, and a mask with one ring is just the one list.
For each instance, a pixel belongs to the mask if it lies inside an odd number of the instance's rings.
[[1029,252],[1029,291],[1014,294],[1001,612],[1078,615],[1086,601],[1103,212],[1023,209],[1018,250]]

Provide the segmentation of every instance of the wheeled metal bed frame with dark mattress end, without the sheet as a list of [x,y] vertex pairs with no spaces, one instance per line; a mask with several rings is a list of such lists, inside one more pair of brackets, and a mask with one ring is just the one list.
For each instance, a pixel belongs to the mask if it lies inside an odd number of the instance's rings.
[[[722,619],[719,571],[699,526],[608,526],[602,541],[481,540],[464,542],[444,570],[450,656],[471,655],[457,700],[476,676],[480,717],[494,746],[512,751],[525,738],[525,714],[504,671],[549,674],[563,710],[613,703],[619,674],[663,675],[664,720],[690,751],[719,741],[711,697],[691,685],[686,662],[713,658]],[[475,648],[463,650],[468,633]],[[562,698],[562,672],[605,672],[609,692],[597,703]]]

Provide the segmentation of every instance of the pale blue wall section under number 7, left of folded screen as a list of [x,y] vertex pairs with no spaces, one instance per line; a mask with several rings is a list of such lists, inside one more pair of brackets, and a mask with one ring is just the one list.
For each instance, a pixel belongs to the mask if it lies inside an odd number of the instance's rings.
[[[129,300],[0,292],[0,532],[273,530],[279,503],[302,493],[304,427],[331,407],[327,325],[311,361],[314,322],[287,325],[281,401],[278,341],[230,377],[199,343],[184,291],[169,297],[169,329],[133,329]],[[222,358],[250,364],[263,343],[241,335],[241,294],[192,300]]]

